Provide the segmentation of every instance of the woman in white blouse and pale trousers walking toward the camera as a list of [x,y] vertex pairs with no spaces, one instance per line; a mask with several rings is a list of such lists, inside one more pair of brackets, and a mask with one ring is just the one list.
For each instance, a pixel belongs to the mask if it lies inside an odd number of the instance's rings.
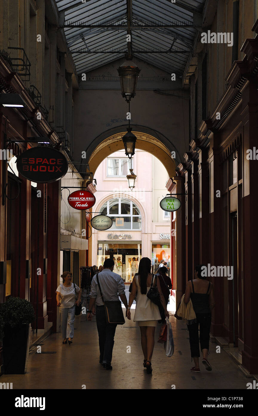
[[[74,319],[75,319],[75,303],[79,305],[80,302],[80,287],[72,283],[72,273],[63,272],[63,283],[56,289],[56,302],[59,307],[61,317],[61,331],[63,336],[63,344],[71,344],[73,341]],[[78,299],[75,302],[75,290],[78,294]]]

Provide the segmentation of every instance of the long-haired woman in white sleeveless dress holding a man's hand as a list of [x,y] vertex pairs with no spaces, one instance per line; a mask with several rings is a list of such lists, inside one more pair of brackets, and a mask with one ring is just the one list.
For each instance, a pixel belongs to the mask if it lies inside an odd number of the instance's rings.
[[136,297],[136,307],[134,313],[134,322],[138,322],[141,330],[141,348],[144,353],[144,367],[147,369],[147,373],[151,374],[151,357],[154,348],[154,335],[155,328],[158,321],[161,319],[161,314],[158,310],[158,305],[155,305],[148,297],[147,293],[151,287],[151,281],[153,279],[153,286],[158,287],[158,292],[161,298],[161,304],[164,308],[165,316],[169,317],[167,311],[167,305],[161,291],[159,279],[153,278],[151,274],[151,260],[148,257],[143,257],[139,262],[139,271],[134,276],[132,282],[132,290],[129,297],[127,318],[131,319],[130,308]]

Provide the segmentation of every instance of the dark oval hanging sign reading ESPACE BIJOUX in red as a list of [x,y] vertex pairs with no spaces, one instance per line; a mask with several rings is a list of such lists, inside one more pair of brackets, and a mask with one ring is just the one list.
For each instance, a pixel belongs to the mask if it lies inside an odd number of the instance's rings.
[[26,179],[48,183],[63,178],[68,171],[68,161],[58,150],[37,146],[25,150],[16,161],[18,172]]

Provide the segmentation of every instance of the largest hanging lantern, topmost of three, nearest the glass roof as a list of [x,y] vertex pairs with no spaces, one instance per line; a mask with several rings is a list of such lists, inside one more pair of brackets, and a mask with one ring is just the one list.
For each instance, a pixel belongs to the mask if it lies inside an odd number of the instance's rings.
[[122,97],[124,97],[126,101],[129,102],[131,98],[134,98],[136,94],[136,84],[141,69],[137,67],[137,65],[134,64],[134,62],[131,60],[127,60],[122,65],[120,65],[117,71],[120,78]]

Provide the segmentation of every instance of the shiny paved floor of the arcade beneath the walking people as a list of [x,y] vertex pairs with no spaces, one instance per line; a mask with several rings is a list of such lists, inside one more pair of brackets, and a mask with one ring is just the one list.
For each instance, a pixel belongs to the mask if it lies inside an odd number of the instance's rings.
[[[132,311],[133,319],[134,311]],[[0,382],[12,382],[13,389],[246,389],[250,381],[237,364],[221,348],[216,353],[216,344],[210,344],[209,362],[212,371],[201,366],[201,373],[190,371],[193,366],[186,324],[170,316],[175,352],[166,357],[163,344],[155,344],[152,375],[146,374],[141,352],[141,337],[138,325],[133,320],[118,325],[112,359],[112,371],[99,364],[99,349],[96,322],[80,322],[75,318],[73,344],[62,344],[61,333],[51,334],[29,353],[27,373],[24,375],[2,375]],[[156,329],[158,338],[160,326]],[[127,353],[131,347],[131,353]],[[54,352],[54,354],[49,354]],[[45,354],[44,354],[45,353]],[[48,353],[48,354],[46,354]]]

